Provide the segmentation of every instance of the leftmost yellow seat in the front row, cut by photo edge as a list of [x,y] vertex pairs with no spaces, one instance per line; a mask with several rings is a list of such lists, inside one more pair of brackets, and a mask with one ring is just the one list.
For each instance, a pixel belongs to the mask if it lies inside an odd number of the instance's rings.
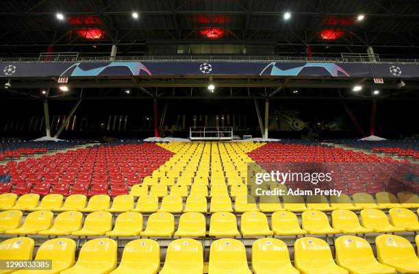
[[[0,242],[1,260],[32,260],[35,242],[31,238],[11,238]],[[12,273],[13,270],[0,270],[1,274]]]

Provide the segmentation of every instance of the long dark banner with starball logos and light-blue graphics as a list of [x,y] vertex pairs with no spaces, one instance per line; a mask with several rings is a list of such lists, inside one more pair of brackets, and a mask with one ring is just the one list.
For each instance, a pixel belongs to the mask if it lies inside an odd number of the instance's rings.
[[415,64],[310,62],[2,63],[0,77],[251,75],[273,77],[419,77]]

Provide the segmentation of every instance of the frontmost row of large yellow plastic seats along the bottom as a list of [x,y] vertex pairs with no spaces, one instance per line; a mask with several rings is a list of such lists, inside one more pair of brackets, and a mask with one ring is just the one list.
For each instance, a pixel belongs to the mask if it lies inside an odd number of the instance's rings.
[[[375,238],[377,258],[370,244],[356,236],[342,236],[335,240],[335,258],[324,240],[305,237],[294,245],[294,265],[285,243],[279,239],[262,238],[253,243],[251,267],[253,273],[269,274],[396,274],[419,273],[419,258],[414,247],[403,237],[383,234]],[[416,236],[419,246],[419,236]],[[69,238],[55,238],[40,245],[35,260],[51,260],[48,273],[144,273],[160,270],[160,245],[155,240],[132,240],[125,245],[120,263],[118,246],[110,238],[88,240],[75,260],[76,243]],[[11,238],[0,243],[3,260],[31,260],[34,240]],[[212,242],[208,273],[251,274],[246,248],[239,240],[219,239]],[[17,271],[16,274],[27,273]],[[173,240],[168,245],[160,274],[204,273],[204,252],[201,242],[190,238]]]

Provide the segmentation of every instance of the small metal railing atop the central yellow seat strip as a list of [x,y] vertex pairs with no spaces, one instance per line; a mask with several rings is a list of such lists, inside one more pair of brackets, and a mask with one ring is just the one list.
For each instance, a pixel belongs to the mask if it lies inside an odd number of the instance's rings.
[[233,140],[233,127],[190,127],[190,140]]

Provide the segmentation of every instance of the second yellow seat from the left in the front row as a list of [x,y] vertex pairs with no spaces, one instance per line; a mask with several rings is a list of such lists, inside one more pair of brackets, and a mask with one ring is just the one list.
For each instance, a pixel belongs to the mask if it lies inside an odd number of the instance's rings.
[[21,270],[14,274],[56,274],[74,265],[76,244],[68,238],[55,238],[43,242],[36,251],[35,260],[51,260],[52,269],[47,271]]

